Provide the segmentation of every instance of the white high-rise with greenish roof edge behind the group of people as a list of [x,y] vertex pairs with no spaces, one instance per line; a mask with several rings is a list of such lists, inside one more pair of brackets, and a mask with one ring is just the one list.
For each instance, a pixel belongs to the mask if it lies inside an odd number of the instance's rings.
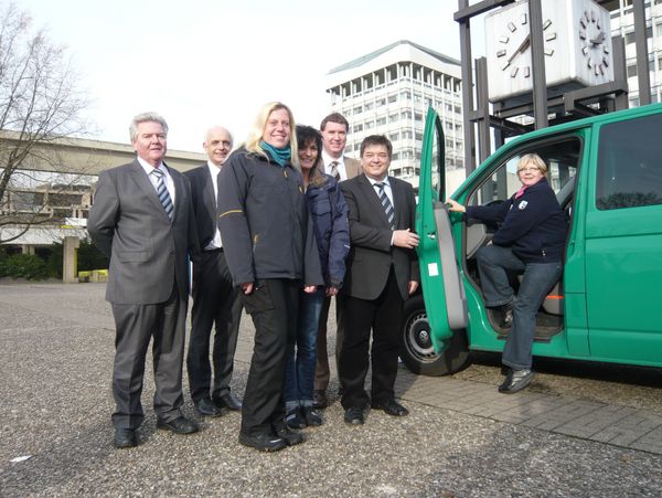
[[329,72],[327,93],[332,112],[350,121],[345,153],[359,157],[369,135],[393,142],[391,174],[418,187],[425,116],[434,106],[446,136],[450,180],[463,179],[460,62],[403,40]]

